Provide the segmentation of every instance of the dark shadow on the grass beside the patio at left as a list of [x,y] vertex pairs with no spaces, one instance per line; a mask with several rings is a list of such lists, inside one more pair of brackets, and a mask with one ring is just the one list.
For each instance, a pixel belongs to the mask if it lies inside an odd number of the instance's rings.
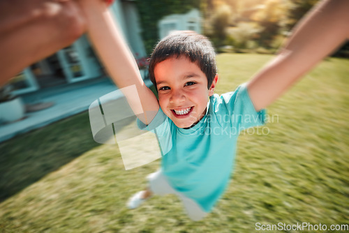
[[3,142],[0,202],[99,145],[87,112]]

